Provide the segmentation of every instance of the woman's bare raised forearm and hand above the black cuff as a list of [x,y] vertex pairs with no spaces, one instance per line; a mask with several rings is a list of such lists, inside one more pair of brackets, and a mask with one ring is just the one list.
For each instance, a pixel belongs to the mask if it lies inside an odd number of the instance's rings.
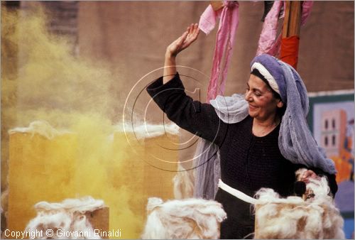
[[163,74],[163,84],[171,80],[176,74],[176,56],[182,50],[195,42],[200,33],[200,28],[198,24],[191,24],[185,33],[182,33],[178,39],[173,41],[168,48],[166,48],[165,62],[164,62],[164,74]]

